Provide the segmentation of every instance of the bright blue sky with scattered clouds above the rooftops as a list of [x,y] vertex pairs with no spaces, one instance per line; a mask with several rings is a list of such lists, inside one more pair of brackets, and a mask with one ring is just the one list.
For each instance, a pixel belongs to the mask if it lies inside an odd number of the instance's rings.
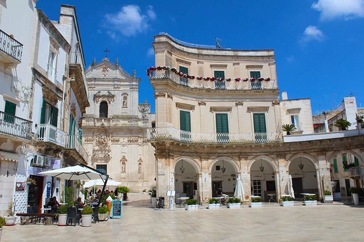
[[154,110],[146,69],[154,65],[158,32],[195,44],[274,49],[278,86],[288,98],[311,98],[312,112],[330,110],[355,93],[364,107],[364,0],[128,1],[38,0],[52,20],[60,5],[76,6],[87,66],[110,60],[141,78],[139,102]]

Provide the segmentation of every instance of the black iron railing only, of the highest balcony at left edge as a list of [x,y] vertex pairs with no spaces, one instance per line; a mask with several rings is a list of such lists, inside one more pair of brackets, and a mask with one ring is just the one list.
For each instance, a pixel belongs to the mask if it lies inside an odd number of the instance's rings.
[[22,61],[23,44],[0,29],[0,51]]

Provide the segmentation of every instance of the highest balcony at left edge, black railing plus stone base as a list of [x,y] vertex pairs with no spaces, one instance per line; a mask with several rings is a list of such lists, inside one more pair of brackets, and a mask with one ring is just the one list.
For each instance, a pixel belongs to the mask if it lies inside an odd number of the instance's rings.
[[0,60],[17,65],[22,61],[22,54],[23,44],[0,29]]

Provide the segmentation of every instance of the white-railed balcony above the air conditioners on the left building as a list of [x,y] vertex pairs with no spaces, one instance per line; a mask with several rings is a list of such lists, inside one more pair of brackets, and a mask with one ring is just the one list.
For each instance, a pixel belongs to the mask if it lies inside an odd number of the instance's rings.
[[51,124],[37,125],[37,141],[65,147],[67,134]]

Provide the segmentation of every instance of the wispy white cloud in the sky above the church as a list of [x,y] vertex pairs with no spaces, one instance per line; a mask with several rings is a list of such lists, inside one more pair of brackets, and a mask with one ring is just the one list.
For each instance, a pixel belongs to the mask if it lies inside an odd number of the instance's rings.
[[142,14],[137,5],[125,5],[117,13],[106,14],[105,18],[108,22],[106,27],[111,27],[122,35],[133,36],[146,30],[149,21],[155,19],[156,14],[151,5],[148,6],[146,14]]

